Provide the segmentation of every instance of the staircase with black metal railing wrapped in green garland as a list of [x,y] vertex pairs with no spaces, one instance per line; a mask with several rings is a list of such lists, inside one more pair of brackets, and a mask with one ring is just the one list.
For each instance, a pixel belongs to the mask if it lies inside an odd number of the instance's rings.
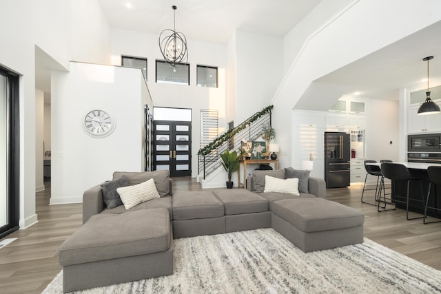
[[250,116],[243,123],[229,129],[214,139],[207,146],[198,151],[198,177],[205,179],[209,174],[218,169],[220,164],[220,154],[225,150],[240,149],[242,140],[256,140],[262,135],[263,127],[271,125],[271,109],[273,105],[269,105]]

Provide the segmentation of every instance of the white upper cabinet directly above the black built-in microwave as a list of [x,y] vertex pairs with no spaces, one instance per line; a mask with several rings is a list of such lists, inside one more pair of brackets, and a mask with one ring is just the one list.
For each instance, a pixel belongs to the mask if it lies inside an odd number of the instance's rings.
[[418,115],[420,105],[407,108],[407,132],[409,134],[441,132],[441,114]]

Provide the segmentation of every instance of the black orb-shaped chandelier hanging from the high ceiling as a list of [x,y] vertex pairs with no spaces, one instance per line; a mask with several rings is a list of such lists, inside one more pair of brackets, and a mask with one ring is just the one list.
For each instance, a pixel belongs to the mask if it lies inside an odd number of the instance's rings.
[[176,6],[173,8],[173,30],[165,29],[159,34],[159,49],[164,56],[166,63],[172,65],[173,71],[180,64],[186,64],[188,61],[187,39],[182,32],[176,32]]

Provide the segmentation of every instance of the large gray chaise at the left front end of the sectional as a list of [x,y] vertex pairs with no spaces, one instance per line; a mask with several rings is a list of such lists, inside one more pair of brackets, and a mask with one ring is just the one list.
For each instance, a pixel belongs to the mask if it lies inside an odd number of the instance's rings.
[[168,209],[100,213],[59,248],[63,292],[172,275]]

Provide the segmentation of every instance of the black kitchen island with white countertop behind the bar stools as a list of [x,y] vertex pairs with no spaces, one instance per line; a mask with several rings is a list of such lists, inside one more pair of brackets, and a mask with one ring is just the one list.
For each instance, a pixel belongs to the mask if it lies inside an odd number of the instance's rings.
[[[421,178],[422,180],[422,190],[424,192],[424,204],[427,200],[427,189],[429,189],[429,178],[427,177],[427,167],[432,165],[441,167],[439,163],[427,163],[427,162],[392,162],[400,163],[409,169],[411,176],[416,178]],[[380,162],[367,163],[367,165],[376,165],[381,167]],[[441,176],[441,175],[440,175]],[[396,198],[396,195],[406,195],[407,181],[396,182],[396,190],[393,189],[392,185],[391,198]],[[431,187],[431,197],[429,199],[429,207],[437,207],[441,209],[441,187],[436,189],[435,185]],[[420,185],[416,182],[412,182],[410,185],[410,198],[420,199]],[[400,209],[406,209],[406,204],[396,203],[396,207]],[[422,207],[421,202],[409,199],[409,211],[424,214],[424,207]],[[434,209],[427,209],[427,216],[433,216],[435,218],[441,218],[441,211],[435,211]]]

